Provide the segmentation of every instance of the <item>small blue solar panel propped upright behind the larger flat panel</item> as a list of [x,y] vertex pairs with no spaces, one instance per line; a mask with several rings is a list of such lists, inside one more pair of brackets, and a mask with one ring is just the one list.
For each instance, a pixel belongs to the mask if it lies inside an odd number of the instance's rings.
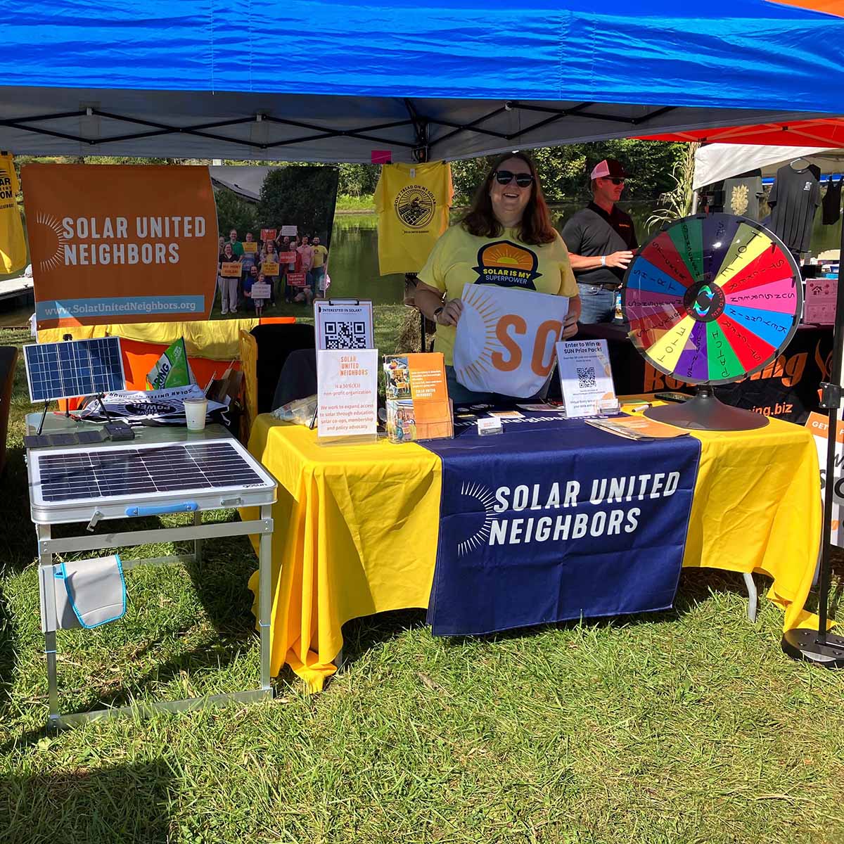
[[33,402],[126,389],[119,337],[24,346]]

